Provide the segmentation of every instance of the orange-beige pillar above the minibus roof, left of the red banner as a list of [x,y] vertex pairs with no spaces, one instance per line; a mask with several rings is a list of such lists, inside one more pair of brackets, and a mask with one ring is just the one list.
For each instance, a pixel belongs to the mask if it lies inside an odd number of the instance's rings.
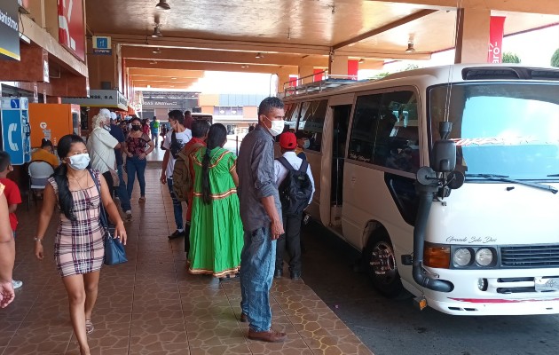
[[487,62],[491,10],[459,9],[456,16],[458,38],[454,63]]

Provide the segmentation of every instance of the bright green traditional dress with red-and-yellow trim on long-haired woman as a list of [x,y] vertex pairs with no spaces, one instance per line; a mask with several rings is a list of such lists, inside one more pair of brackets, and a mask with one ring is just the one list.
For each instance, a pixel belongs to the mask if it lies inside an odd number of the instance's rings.
[[216,277],[234,274],[240,268],[243,229],[239,197],[231,171],[236,157],[217,147],[210,151],[209,190],[211,203],[202,200],[202,161],[206,148],[193,154],[194,193],[190,227],[190,265],[188,272],[208,273]]

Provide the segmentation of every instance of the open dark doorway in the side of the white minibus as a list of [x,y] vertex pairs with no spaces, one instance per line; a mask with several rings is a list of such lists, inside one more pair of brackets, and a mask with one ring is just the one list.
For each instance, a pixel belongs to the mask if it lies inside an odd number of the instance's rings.
[[350,126],[351,105],[332,106],[332,170],[330,185],[330,225],[342,232],[343,163]]

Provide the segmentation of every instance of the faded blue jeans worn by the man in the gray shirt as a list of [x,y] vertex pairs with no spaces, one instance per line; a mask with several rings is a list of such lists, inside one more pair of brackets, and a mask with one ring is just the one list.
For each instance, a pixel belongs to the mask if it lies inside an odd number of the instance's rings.
[[248,316],[250,328],[264,332],[272,327],[270,288],[276,260],[276,241],[270,225],[245,232],[240,253],[240,309]]

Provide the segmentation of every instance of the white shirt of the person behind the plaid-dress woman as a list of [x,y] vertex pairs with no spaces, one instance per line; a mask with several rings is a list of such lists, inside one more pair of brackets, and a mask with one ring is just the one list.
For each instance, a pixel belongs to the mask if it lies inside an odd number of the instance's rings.
[[91,168],[99,170],[101,174],[106,173],[109,168],[116,170],[114,147],[118,140],[111,136],[108,130],[96,128],[87,139],[87,150],[91,158]]

